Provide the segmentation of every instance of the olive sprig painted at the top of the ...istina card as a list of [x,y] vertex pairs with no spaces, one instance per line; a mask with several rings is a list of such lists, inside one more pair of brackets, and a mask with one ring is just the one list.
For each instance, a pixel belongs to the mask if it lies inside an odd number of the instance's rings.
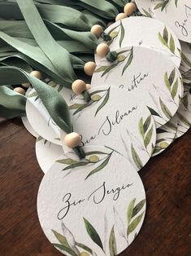
[[[128,55],[127,55],[127,53],[128,53]],[[112,64],[109,64],[109,65],[101,66],[101,67],[97,68],[94,71],[94,73],[102,73],[101,77],[104,77],[104,76],[108,75],[111,72],[111,70],[119,67],[119,65],[121,65],[121,64],[124,64],[124,68],[123,68],[123,71],[121,74],[123,76],[124,72],[126,71],[128,66],[130,66],[130,64],[132,64],[132,60],[133,60],[133,46],[128,51],[119,51],[117,53],[117,60],[115,60],[115,62],[113,62]]]

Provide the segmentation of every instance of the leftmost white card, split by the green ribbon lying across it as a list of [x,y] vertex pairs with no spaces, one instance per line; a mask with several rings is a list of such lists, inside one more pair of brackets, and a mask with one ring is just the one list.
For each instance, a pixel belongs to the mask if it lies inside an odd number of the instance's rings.
[[[52,85],[50,85],[52,86]],[[63,86],[54,85],[55,90],[58,90],[63,98],[66,100],[67,104],[69,103],[71,97],[74,93],[72,90],[63,88]],[[51,143],[59,144],[60,134],[59,127],[54,123],[50,114],[47,112],[44,105],[41,103],[36,90],[31,90],[26,104],[26,114],[30,125],[33,127],[33,130],[37,132],[38,135],[41,135],[42,138],[50,141]]]

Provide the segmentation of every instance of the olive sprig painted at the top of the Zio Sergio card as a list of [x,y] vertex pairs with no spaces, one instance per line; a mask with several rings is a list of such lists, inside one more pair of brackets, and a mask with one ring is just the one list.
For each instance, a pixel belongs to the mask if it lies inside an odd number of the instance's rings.
[[76,168],[81,166],[93,166],[93,170],[91,170],[87,175],[87,177],[85,178],[85,179],[89,179],[90,176],[98,173],[99,171],[105,168],[105,166],[109,163],[111,156],[113,155],[114,152],[119,153],[115,151],[115,149],[112,149],[106,146],[105,148],[109,149],[110,152],[101,152],[101,151],[85,152],[85,159],[83,161],[76,161],[76,160],[73,160],[72,158],[64,158],[56,162],[63,164],[65,166],[63,168],[63,171],[75,170]]

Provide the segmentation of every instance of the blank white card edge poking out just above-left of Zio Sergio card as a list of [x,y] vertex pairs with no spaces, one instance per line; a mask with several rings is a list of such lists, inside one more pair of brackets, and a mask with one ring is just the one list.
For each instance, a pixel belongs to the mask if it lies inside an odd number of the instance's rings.
[[35,150],[38,164],[45,174],[54,164],[54,161],[63,155],[62,146],[50,143],[41,136],[37,138]]

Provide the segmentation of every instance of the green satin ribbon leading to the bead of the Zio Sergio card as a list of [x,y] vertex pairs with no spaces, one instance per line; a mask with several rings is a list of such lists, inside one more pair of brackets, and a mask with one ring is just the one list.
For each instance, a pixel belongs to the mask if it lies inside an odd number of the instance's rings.
[[[37,90],[37,94],[41,99],[42,104],[44,104],[46,110],[50,113],[50,117],[52,117],[57,126],[64,130],[66,134],[72,133],[73,126],[70,110],[66,101],[57,90],[54,90],[51,86],[46,85],[45,82],[31,76],[20,68],[0,67],[0,77],[0,86],[4,86],[5,83],[7,85],[15,85],[23,82],[30,82],[34,89]],[[2,95],[2,98],[3,96],[4,95]],[[85,156],[81,148],[76,148],[75,150],[80,158]]]

